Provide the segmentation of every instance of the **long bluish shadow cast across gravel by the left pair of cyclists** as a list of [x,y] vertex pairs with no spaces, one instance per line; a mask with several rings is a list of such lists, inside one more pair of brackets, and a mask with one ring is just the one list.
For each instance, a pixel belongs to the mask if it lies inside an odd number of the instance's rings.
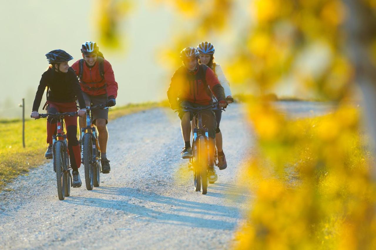
[[[69,197],[64,202],[121,210],[126,214],[138,215],[138,220],[151,219],[154,223],[209,229],[232,230],[237,226],[237,218],[239,218],[237,207],[187,201],[130,187],[99,187],[91,192],[114,195],[114,197],[109,199]],[[212,196],[215,195],[212,193]],[[208,216],[210,219],[205,218]],[[228,218],[232,218],[233,222],[229,222]]]

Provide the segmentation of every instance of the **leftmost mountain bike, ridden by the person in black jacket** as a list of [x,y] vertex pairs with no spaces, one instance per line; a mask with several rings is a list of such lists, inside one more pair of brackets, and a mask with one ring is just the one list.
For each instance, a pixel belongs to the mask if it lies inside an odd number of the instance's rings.
[[67,135],[64,133],[64,116],[77,116],[77,112],[39,114],[39,118],[56,120],[57,133],[52,136],[52,160],[53,171],[56,172],[59,200],[70,196],[70,187],[73,186]]

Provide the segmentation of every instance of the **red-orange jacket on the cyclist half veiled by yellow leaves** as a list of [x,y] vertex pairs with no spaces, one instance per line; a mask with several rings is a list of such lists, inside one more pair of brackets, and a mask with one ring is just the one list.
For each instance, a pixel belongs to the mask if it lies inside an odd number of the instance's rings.
[[193,73],[188,72],[184,66],[175,71],[167,97],[171,108],[176,109],[180,101],[209,105],[212,103],[212,93],[218,102],[225,100],[223,87],[213,70],[205,64],[199,64]]

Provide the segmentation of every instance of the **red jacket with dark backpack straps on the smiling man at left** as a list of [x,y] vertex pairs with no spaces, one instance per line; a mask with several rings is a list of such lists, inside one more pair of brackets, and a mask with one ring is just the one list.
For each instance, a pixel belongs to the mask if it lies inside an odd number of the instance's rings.
[[[79,74],[79,63],[77,60],[71,67],[76,71],[76,75]],[[89,68],[86,63],[83,63],[82,79],[80,79],[80,85],[83,92],[91,96],[107,95],[117,97],[118,84],[115,81],[114,70],[106,59],[103,59],[103,67],[105,71],[104,78],[99,73],[99,62],[96,61],[93,67]],[[81,81],[85,82],[83,84]],[[106,87],[103,87],[106,84]],[[89,85],[91,88],[89,88]]]

